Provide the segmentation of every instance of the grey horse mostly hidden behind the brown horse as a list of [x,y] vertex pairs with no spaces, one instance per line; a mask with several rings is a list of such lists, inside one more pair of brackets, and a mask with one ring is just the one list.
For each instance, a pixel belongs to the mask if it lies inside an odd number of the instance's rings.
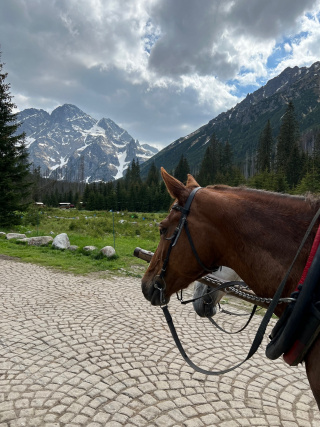
[[[239,275],[229,267],[221,267],[215,272],[215,277],[226,281],[239,281]],[[211,288],[210,286],[196,281],[193,290],[192,302],[193,308],[200,317],[212,317],[217,313],[217,305],[221,298],[225,295],[223,291],[217,291],[208,295]]]

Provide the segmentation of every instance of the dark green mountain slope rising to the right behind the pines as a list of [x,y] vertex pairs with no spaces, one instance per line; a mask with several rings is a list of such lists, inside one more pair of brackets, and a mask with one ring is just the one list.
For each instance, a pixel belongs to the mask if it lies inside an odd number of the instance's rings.
[[246,155],[256,150],[260,133],[268,119],[277,135],[289,101],[294,103],[302,133],[319,129],[320,62],[309,68],[286,68],[265,86],[248,94],[235,107],[161,150],[152,161],[142,165],[141,175],[146,175],[153,161],[157,167],[163,166],[169,171],[174,169],[182,154],[187,158],[191,170],[197,171],[213,133],[221,141],[229,141],[234,159],[240,163]]

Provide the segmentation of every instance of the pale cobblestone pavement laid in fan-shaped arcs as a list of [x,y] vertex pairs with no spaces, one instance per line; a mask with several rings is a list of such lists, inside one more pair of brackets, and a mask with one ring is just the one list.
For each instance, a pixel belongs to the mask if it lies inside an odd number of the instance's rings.
[[[0,260],[0,296],[0,427],[320,426],[304,368],[271,362],[264,348],[227,375],[193,372],[139,279]],[[242,360],[261,319],[230,337],[174,298],[170,307],[207,369]],[[216,319],[229,329],[245,321]]]

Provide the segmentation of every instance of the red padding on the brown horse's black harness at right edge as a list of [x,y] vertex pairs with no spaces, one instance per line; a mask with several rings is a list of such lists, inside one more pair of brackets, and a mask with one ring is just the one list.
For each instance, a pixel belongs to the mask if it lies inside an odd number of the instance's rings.
[[[304,281],[306,279],[308,270],[312,264],[313,258],[316,254],[316,251],[318,249],[318,246],[320,244],[320,225],[318,227],[317,233],[316,233],[316,237],[314,238],[313,244],[312,244],[312,248],[308,257],[308,261],[304,267],[301,279],[295,289],[295,291],[299,291],[298,287],[304,284]],[[301,289],[300,286],[300,289]],[[315,321],[317,321],[317,313],[314,313],[315,315]],[[311,326],[311,325],[310,325]],[[314,330],[313,334],[311,334],[310,336],[308,336],[308,339],[306,340],[300,340],[297,339],[294,344],[292,345],[292,347],[290,348],[290,350],[288,350],[284,355],[283,355],[283,359],[284,361],[292,366],[292,365],[298,365],[298,363],[302,362],[302,360],[304,359],[309,347],[311,346],[311,344],[313,343],[315,337],[319,334],[319,328],[316,327],[316,329]],[[306,337],[305,337],[306,338]],[[308,341],[308,342],[305,342]]]

